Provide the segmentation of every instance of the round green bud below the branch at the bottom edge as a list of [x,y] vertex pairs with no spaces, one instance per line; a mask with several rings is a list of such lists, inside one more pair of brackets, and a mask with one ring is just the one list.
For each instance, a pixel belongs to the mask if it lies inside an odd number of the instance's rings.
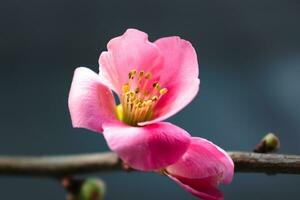
[[106,186],[100,179],[89,178],[86,179],[80,188],[80,200],[103,200]]

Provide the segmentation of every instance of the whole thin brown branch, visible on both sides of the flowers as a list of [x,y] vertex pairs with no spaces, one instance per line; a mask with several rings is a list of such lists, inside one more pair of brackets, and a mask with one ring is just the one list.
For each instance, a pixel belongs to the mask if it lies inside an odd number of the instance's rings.
[[[228,152],[236,172],[300,174],[300,156]],[[64,177],[74,174],[124,170],[115,153],[70,156],[0,156],[0,175]]]

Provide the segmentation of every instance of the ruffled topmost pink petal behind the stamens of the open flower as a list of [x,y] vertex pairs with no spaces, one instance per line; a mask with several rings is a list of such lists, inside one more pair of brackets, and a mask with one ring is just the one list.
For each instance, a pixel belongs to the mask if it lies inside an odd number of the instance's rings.
[[107,49],[99,58],[100,76],[119,95],[131,70],[155,73],[162,65],[159,49],[148,41],[146,33],[136,29],[110,40]]

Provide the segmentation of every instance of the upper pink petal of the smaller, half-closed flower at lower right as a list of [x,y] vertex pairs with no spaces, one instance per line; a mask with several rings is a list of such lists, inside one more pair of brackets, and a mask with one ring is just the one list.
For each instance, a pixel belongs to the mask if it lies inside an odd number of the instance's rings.
[[234,164],[227,153],[208,140],[193,137],[187,152],[178,162],[167,167],[173,176],[190,179],[217,178],[219,183],[230,183]]

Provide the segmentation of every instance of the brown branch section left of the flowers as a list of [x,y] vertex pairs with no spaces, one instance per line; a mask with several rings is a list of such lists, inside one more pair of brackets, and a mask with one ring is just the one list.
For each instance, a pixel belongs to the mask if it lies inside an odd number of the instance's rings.
[[0,156],[0,174],[29,176],[68,176],[122,169],[111,152],[86,155],[10,157]]

